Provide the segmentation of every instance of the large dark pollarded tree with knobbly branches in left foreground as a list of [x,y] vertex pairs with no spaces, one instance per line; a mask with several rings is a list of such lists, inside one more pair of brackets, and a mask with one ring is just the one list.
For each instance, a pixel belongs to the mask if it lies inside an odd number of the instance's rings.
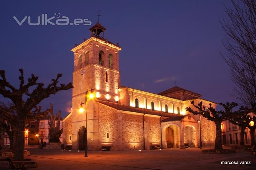
[[[43,83],[37,83],[38,77],[31,74],[31,78],[28,78],[28,83],[24,84],[24,72],[20,69],[20,85],[19,88],[15,88],[11,85],[5,77],[5,71],[0,70],[0,94],[13,101],[17,111],[17,138],[16,148],[14,152],[15,160],[23,160],[24,152],[24,131],[26,125],[26,118],[29,112],[36,107],[42,100],[48,98],[51,94],[56,94],[61,90],[68,90],[73,88],[72,83],[68,85],[60,84],[58,86],[59,78],[62,74],[58,74],[56,79],[52,79],[52,83],[44,87]],[[32,88],[32,90],[31,90]],[[30,92],[31,91],[31,92]],[[26,97],[24,97],[26,96]],[[24,99],[24,100],[23,100]]]

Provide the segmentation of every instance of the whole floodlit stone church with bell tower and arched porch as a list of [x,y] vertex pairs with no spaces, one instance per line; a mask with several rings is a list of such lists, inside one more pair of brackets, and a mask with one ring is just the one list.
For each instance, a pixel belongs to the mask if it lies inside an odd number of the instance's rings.
[[[214,123],[190,115],[185,108],[192,108],[191,100],[203,101],[205,107],[216,103],[177,86],[158,94],[122,86],[122,48],[104,38],[106,28],[99,22],[89,30],[91,37],[71,49],[74,88],[72,112],[63,120],[65,146],[84,149],[85,127],[89,150],[101,146],[111,146],[111,150],[143,150],[151,145],[199,147],[200,133],[203,146],[214,145]],[[85,108],[82,113],[81,106]]]

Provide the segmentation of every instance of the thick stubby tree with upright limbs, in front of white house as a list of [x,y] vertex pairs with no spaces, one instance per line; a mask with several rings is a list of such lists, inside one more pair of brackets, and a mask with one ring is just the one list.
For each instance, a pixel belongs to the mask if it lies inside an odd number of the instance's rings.
[[[60,136],[62,134],[63,128],[60,129],[60,110],[58,112],[58,118],[57,114],[53,116],[53,106],[52,103],[50,103],[50,109],[47,109],[47,111],[50,113],[50,121],[48,121],[48,124],[50,126],[49,129],[49,137],[50,137],[50,142],[60,142]],[[57,118],[57,124],[55,126],[55,121]]]

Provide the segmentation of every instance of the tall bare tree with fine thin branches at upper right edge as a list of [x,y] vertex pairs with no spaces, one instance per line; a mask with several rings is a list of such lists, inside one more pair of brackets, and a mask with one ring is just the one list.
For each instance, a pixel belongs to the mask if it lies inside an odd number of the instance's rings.
[[221,53],[231,70],[231,79],[236,84],[231,95],[256,112],[256,1],[231,0],[225,6],[228,19],[221,22],[227,34],[222,41],[228,53]]

